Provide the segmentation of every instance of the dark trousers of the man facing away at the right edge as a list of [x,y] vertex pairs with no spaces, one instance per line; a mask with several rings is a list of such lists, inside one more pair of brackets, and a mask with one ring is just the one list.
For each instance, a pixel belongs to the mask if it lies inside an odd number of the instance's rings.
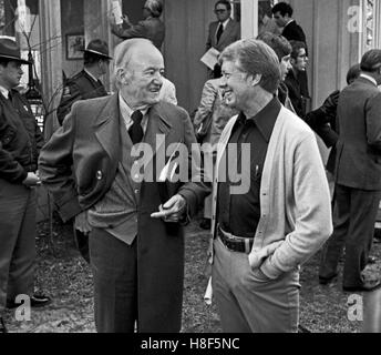
[[372,245],[380,191],[363,191],[336,184],[333,234],[322,250],[319,276],[331,277],[346,246],[343,286],[362,285],[362,270],[367,266]]

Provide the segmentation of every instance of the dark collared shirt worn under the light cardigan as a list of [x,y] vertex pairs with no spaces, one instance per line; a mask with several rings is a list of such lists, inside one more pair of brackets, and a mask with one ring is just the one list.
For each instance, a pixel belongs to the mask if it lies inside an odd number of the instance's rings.
[[[241,144],[250,145],[250,166],[243,166],[244,174],[250,173],[250,189],[246,194],[230,195],[230,186],[239,185],[240,182],[229,181],[218,184],[218,216],[217,221],[222,229],[237,236],[254,237],[260,219],[260,182],[274,125],[280,112],[281,104],[274,98],[254,118],[246,119],[243,113],[233,128],[229,144],[237,143],[238,159],[233,158],[229,162],[228,154],[224,153],[226,171],[238,171],[241,173]],[[233,166],[229,164],[234,164]],[[224,166],[222,163],[220,166]],[[248,171],[249,169],[249,171]]]

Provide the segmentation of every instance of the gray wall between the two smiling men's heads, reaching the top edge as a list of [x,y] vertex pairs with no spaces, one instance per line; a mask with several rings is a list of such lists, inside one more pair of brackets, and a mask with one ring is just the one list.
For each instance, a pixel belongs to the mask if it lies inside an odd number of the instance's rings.
[[208,24],[215,21],[215,0],[166,0],[164,58],[166,77],[177,90],[178,104],[188,112],[197,109],[206,67],[199,61],[205,53]]

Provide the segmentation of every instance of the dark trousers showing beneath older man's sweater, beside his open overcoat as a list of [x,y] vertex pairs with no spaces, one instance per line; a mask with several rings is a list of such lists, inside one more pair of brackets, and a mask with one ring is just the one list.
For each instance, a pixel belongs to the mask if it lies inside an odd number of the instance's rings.
[[104,230],[90,233],[99,333],[133,333],[137,320],[136,240],[127,245]]

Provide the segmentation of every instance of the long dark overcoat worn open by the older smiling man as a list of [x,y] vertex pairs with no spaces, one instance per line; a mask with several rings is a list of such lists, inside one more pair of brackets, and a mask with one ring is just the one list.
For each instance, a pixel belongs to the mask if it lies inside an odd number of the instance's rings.
[[[165,135],[159,149],[183,142],[190,151],[196,142],[185,110],[161,102],[148,111],[144,142],[156,152],[157,134]],[[53,193],[64,220],[89,210],[109,191],[121,159],[119,95],[76,102],[62,128],[54,133],[40,155],[40,176]],[[189,156],[190,158],[190,156]],[[151,158],[156,176],[155,156]],[[72,179],[71,166],[76,184]],[[148,168],[150,171],[150,168]],[[199,170],[196,171],[196,175]],[[195,178],[195,176],[194,176]],[[188,214],[209,193],[203,183],[168,183],[168,195],[182,194]],[[178,223],[151,217],[159,204],[156,181],[144,181],[138,202],[138,325],[140,332],[179,332],[182,316],[184,239]],[[99,251],[102,252],[102,251]],[[110,255],[112,257],[112,255]]]

